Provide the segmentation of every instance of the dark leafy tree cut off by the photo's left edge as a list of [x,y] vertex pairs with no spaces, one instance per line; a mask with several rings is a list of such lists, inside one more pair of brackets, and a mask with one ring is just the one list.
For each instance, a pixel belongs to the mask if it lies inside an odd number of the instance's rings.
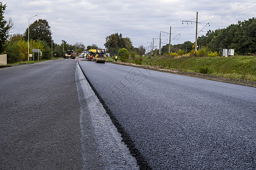
[[3,2],[0,2],[0,54],[5,51],[4,45],[6,44],[9,31],[13,27],[13,22],[11,19],[9,19],[9,22],[7,22],[3,16],[6,7],[6,4],[3,5]]

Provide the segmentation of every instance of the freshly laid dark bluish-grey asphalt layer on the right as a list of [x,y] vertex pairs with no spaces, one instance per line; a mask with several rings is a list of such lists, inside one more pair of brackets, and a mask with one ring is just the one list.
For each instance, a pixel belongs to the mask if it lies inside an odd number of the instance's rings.
[[139,164],[255,169],[255,88],[112,63],[79,64]]

